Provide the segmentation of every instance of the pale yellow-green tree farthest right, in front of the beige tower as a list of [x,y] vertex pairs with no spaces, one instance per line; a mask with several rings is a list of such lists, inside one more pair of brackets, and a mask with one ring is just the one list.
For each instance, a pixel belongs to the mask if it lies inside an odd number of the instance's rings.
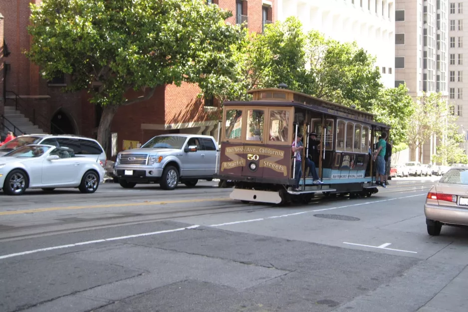
[[446,137],[449,126],[453,124],[453,116],[441,93],[424,94],[418,97],[415,104],[415,111],[409,119],[407,136],[413,153],[419,148],[418,161],[421,161],[423,144],[432,135]]

